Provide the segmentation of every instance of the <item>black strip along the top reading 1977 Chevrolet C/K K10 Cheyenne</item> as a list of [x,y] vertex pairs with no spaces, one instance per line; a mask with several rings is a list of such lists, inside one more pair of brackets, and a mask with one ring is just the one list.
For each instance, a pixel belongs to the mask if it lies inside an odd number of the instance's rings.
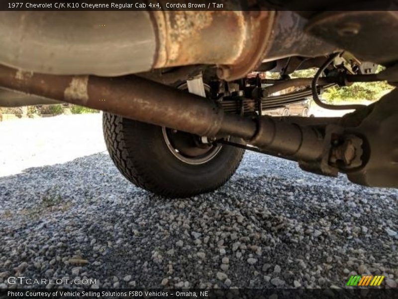
[[126,11],[126,10],[398,10],[394,0],[2,0],[0,10]]

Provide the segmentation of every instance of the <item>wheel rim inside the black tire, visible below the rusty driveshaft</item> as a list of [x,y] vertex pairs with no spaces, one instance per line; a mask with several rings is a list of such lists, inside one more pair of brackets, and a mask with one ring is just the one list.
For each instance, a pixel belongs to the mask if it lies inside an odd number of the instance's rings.
[[203,144],[194,134],[162,127],[167,148],[179,160],[187,164],[203,164],[214,158],[221,145]]

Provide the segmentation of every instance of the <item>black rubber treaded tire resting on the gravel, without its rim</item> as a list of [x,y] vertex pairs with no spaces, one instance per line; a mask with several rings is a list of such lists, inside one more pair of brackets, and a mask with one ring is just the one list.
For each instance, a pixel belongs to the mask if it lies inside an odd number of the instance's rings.
[[168,148],[162,127],[106,112],[102,125],[106,147],[119,171],[136,186],[165,197],[217,189],[232,176],[244,153],[244,149],[222,146],[208,161],[190,164]]

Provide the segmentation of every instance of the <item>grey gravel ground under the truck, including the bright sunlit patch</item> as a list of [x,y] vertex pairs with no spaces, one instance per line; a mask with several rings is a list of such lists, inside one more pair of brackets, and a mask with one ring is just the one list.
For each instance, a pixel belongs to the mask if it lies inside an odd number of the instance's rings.
[[100,115],[24,122],[23,131],[0,124],[0,288],[16,287],[10,276],[96,279],[91,288],[328,288],[355,274],[397,287],[397,190],[247,152],[219,190],[169,200],[119,174]]

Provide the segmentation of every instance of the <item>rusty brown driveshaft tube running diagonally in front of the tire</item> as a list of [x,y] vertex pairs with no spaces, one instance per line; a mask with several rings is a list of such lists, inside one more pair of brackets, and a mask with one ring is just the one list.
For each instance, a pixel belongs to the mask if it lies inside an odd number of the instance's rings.
[[[0,65],[0,87],[82,105],[134,120],[212,137],[217,133],[251,138],[256,124],[223,121],[213,101],[137,76],[105,78],[23,72]],[[230,118],[226,118],[230,120]]]

